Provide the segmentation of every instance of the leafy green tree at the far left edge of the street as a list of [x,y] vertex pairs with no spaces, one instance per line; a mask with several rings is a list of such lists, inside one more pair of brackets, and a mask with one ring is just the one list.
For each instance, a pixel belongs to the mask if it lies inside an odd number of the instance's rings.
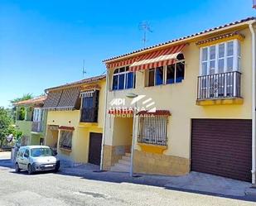
[[15,135],[15,127],[13,126],[12,117],[8,113],[7,109],[0,108],[0,148],[2,147],[3,141],[10,134]]

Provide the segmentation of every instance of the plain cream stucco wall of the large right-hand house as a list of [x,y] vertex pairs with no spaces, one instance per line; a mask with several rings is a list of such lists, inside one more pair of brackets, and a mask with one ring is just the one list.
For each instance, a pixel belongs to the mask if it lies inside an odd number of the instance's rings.
[[[145,72],[136,73],[136,89],[110,91],[108,93],[108,107],[113,98],[125,98],[126,93],[137,93],[147,95],[156,103],[157,109],[167,109],[171,117],[167,126],[168,148],[164,155],[178,156],[186,159],[191,157],[191,118],[251,118],[251,35],[249,29],[240,31],[245,39],[241,42],[241,93],[244,98],[242,105],[215,105],[197,106],[197,77],[200,75],[200,48],[196,42],[191,42],[183,50],[186,60],[185,79],[178,84],[167,84],[155,87],[144,87]],[[110,82],[112,81],[113,69],[109,71]],[[111,84],[111,83],[109,83]],[[126,98],[126,105],[129,106],[130,99]],[[141,107],[138,103],[138,107]],[[136,123],[138,126],[138,123]],[[135,128],[138,131],[138,128]],[[117,134],[114,128],[114,117],[106,118],[104,144],[114,145],[113,135]],[[122,136],[122,131],[119,132]],[[136,145],[136,150],[140,147]]]

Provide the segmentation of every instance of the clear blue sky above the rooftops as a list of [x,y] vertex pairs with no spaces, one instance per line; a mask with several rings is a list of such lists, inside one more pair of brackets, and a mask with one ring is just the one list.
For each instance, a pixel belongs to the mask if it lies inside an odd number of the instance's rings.
[[256,16],[252,0],[0,0],[0,106],[104,73],[102,60]]

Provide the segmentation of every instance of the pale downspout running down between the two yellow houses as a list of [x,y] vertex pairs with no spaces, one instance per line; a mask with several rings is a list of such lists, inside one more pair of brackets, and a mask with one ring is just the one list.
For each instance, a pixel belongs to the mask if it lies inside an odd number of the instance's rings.
[[101,141],[100,170],[103,170],[104,140],[105,140],[105,136],[106,136],[106,122],[107,122],[106,119],[107,119],[108,90],[109,90],[109,69],[107,69],[107,74],[106,74],[105,105],[104,105],[104,127],[103,127],[103,139]]

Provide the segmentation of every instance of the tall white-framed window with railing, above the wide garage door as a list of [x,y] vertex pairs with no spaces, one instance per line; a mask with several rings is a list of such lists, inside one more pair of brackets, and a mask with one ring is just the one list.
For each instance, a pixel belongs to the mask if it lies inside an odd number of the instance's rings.
[[240,97],[240,70],[238,40],[201,48],[198,98]]

